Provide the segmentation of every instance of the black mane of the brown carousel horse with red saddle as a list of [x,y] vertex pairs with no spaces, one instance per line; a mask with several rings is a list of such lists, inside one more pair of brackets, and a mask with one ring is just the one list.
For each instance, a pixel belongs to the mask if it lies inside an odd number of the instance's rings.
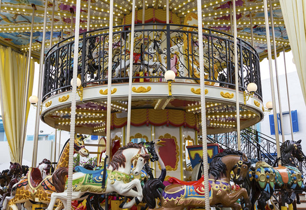
[[223,152],[220,152],[213,156],[213,160],[209,164],[208,176],[212,175],[215,179],[221,177],[221,175],[226,174],[226,165],[222,162],[222,158],[226,155],[239,155],[242,156],[243,153],[241,151],[236,151],[233,149],[224,149]]

